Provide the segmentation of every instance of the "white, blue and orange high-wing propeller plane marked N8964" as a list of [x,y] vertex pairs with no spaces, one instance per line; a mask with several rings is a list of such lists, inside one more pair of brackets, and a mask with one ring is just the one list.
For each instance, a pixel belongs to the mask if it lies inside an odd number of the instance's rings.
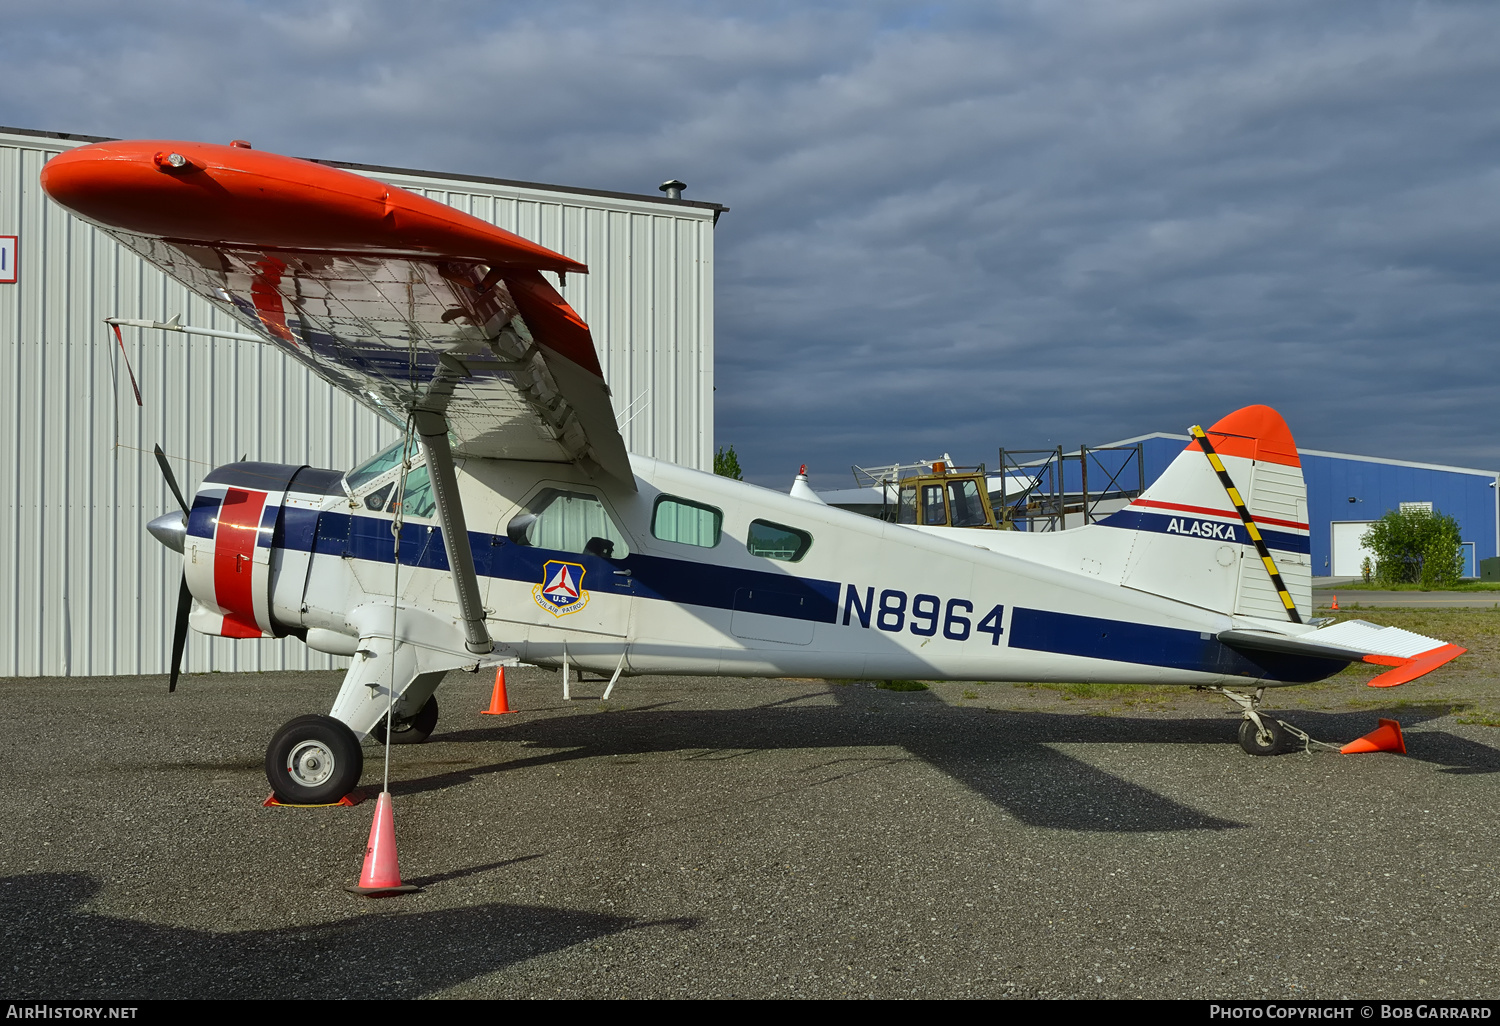
[[282,801],[351,790],[366,735],[424,740],[456,669],[1176,684],[1238,702],[1240,744],[1274,754],[1306,738],[1264,688],[1358,660],[1401,684],[1464,651],[1310,621],[1306,492],[1268,406],[1194,429],[1089,526],[888,524],[627,453],[543,278],[588,268],[459,210],[243,142],[82,146],[42,186],[404,429],[348,472],[219,466],[190,506],[162,459],[172,686],[188,627],[351,657],[328,716],[270,742]]

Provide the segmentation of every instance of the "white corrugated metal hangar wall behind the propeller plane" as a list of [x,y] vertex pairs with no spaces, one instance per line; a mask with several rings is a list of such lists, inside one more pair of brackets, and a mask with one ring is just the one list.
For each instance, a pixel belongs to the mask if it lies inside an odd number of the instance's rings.
[[[165,674],[180,567],[146,534],[176,506],[160,442],[188,494],[249,456],[346,470],[394,441],[374,412],[268,346],[124,330],[105,316],[243,330],[50,202],[42,165],[88,136],[0,129],[0,284],[6,429],[0,462],[0,676]],[[567,302],[594,330],[627,447],[712,465],[717,204],[398,168],[346,166],[447,202],[590,266]],[[0,273],[0,280],[8,276]],[[556,280],[554,285],[556,285]],[[332,668],[300,642],[190,634],[186,672]]]

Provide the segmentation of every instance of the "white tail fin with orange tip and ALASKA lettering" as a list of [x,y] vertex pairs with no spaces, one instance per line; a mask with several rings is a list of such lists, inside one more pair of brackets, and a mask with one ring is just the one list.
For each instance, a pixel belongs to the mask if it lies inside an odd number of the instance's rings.
[[[1306,486],[1287,423],[1245,406],[1206,432],[1300,618],[1312,614]],[[1216,612],[1290,620],[1224,482],[1197,440],[1102,525],[1136,532],[1120,584]]]

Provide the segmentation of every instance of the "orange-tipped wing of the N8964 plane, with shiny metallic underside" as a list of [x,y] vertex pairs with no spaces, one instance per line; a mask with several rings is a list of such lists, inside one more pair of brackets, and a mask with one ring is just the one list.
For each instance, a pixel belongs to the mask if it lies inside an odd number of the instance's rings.
[[588,268],[416,194],[207,142],[52,158],[52,200],[456,454],[580,464],[634,488],[588,326],[540,272]]

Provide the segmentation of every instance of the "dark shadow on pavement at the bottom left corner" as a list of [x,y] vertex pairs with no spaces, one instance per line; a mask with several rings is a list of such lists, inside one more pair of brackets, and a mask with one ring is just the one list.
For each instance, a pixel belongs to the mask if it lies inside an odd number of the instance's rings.
[[650,926],[526,904],[369,912],[318,926],[216,933],[82,909],[99,882],[0,879],[0,990],[58,998],[417,998],[496,969]]

